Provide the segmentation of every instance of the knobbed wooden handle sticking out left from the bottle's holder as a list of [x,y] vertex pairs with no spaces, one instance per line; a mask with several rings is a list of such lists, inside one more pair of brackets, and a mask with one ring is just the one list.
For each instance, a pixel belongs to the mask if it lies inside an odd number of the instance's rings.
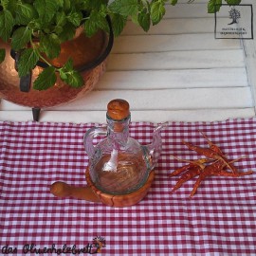
[[50,192],[57,197],[72,196],[90,202],[101,202],[100,198],[90,189],[90,187],[72,187],[62,181],[54,182],[50,187]]

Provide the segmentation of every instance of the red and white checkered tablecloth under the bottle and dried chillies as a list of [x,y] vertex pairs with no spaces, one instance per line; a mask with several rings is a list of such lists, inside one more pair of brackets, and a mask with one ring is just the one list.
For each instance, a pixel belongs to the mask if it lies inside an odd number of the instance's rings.
[[[95,125],[0,122],[1,255],[88,255],[97,237],[101,255],[256,255],[256,119],[169,122],[153,187],[121,209],[49,192],[56,180],[85,185],[82,139]],[[130,136],[148,144],[155,126],[132,122]],[[198,130],[230,159],[247,155],[234,165],[255,174],[210,176],[190,198],[193,178],[171,195],[178,176],[169,174],[184,165],[172,155],[199,156],[182,140],[207,146]]]

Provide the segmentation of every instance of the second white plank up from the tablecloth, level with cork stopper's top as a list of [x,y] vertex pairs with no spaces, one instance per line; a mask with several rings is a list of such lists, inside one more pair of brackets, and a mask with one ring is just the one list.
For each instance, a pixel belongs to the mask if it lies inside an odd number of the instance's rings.
[[[104,110],[113,99],[129,101],[135,110],[182,110],[210,108],[247,108],[253,107],[249,87],[232,88],[191,88],[155,90],[109,90],[92,91],[77,101],[50,110]],[[8,101],[2,101],[1,110],[27,110]]]

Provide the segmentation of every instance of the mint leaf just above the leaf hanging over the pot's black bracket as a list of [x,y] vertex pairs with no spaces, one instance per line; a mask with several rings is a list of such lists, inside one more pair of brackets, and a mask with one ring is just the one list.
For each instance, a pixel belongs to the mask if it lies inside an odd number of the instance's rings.
[[11,38],[11,47],[14,50],[19,50],[26,47],[27,43],[30,41],[32,35],[32,30],[29,27],[19,27],[17,28]]

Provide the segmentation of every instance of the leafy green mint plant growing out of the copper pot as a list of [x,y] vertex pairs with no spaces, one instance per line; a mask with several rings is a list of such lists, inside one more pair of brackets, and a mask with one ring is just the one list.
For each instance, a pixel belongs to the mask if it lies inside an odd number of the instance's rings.
[[[99,29],[109,31],[106,16],[112,21],[113,32],[119,36],[127,19],[145,31],[158,24],[165,14],[165,5],[178,0],[0,0],[0,38],[10,42],[19,52],[18,73],[26,76],[38,61],[47,64],[33,87],[46,90],[56,82],[56,72],[73,87],[83,84],[81,74],[74,69],[72,60],[55,67],[47,59],[60,55],[61,44],[71,40],[77,27],[83,25],[88,36]],[[189,0],[192,2],[192,0]],[[226,0],[230,5],[241,0]],[[209,12],[222,0],[210,0]],[[214,9],[213,9],[214,8]],[[5,49],[0,48],[0,62],[5,60]],[[44,57],[46,56],[46,58]]]

